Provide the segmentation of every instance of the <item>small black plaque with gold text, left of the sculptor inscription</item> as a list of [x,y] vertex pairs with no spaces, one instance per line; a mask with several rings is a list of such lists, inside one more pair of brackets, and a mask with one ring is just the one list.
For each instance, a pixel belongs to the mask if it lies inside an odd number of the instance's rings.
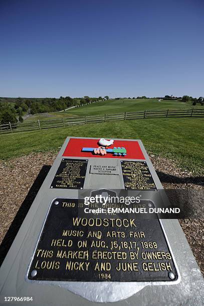
[[83,189],[87,160],[63,158],[51,188]]

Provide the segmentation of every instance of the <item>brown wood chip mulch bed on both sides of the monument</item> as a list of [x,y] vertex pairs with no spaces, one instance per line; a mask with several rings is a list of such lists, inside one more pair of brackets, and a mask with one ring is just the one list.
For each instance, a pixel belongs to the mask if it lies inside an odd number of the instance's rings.
[[[33,190],[33,192],[31,187],[37,176],[40,179],[39,172],[41,174],[41,180],[43,181],[48,173],[49,165],[52,165],[56,155],[56,152],[40,152],[0,162],[0,243],[6,235],[2,244],[11,245],[14,239],[11,232],[16,234],[21,225],[21,223],[18,224],[18,226],[14,225],[13,220],[17,215],[20,215],[22,219],[21,222],[23,221],[40,185],[37,189]],[[204,190],[203,177],[195,177],[192,172],[181,170],[176,166],[174,160],[154,156],[151,153],[150,158],[164,188]],[[27,196],[28,192],[29,197]],[[192,252],[204,275],[203,221],[204,219],[198,218],[179,220]],[[14,226],[12,227],[11,224]],[[10,236],[7,237],[9,232]],[[5,246],[2,249],[2,256],[4,257],[8,249],[5,249]],[[2,260],[0,260],[0,264]]]

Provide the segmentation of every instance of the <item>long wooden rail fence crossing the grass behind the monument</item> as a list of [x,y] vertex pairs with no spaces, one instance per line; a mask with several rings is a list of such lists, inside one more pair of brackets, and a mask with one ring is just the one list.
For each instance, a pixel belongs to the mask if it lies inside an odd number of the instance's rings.
[[143,110],[133,112],[107,113],[82,117],[62,117],[57,119],[24,121],[23,123],[8,123],[0,125],[0,133],[13,133],[50,127],[62,127],[88,123],[109,122],[117,120],[165,118],[165,117],[204,117],[204,109],[182,110]]

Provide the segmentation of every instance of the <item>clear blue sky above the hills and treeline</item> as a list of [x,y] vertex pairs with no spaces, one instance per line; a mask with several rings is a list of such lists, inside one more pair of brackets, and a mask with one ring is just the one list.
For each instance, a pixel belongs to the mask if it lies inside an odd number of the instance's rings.
[[0,96],[204,96],[202,0],[0,3]]

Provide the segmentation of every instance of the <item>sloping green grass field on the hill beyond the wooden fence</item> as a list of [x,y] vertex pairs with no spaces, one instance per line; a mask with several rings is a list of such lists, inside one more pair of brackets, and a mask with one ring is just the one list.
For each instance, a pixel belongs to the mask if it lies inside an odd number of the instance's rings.
[[88,115],[97,115],[104,113],[115,113],[115,112],[131,112],[131,111],[140,111],[140,110],[151,110],[151,109],[191,109],[194,108],[203,108],[200,104],[192,106],[192,103],[181,102],[174,100],[161,100],[158,99],[120,99],[120,100],[107,100],[96,103],[90,103],[89,105],[84,105],[81,107],[71,108],[62,112],[51,112],[49,116],[45,114],[35,114],[29,117],[27,120],[46,120],[54,118],[66,117],[75,117],[75,116],[88,116]]

